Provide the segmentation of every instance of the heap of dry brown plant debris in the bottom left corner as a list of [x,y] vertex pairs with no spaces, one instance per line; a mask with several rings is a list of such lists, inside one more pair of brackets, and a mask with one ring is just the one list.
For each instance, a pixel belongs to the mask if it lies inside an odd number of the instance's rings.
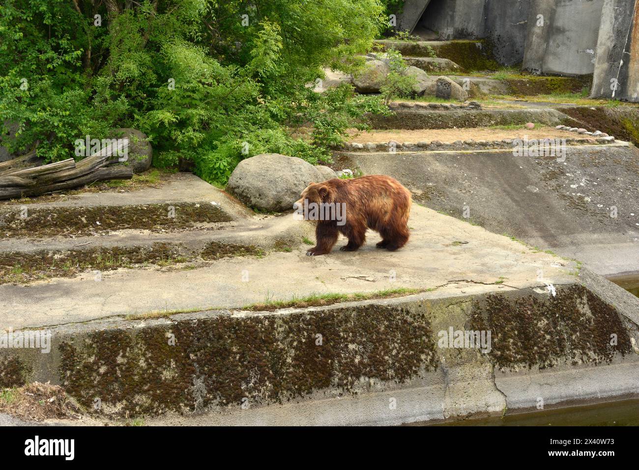
[[37,422],[52,419],[75,420],[82,413],[81,407],[66,395],[63,388],[39,382],[0,391],[0,411]]

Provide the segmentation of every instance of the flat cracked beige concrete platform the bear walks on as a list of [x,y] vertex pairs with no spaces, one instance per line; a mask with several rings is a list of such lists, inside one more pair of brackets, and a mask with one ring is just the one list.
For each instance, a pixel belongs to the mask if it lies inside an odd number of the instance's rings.
[[[271,217],[254,236],[272,235],[272,227],[290,220],[292,215]],[[409,287],[450,296],[575,282],[573,262],[416,204],[409,226],[411,239],[397,252],[375,248],[378,234],[369,232],[367,245],[358,252],[337,250],[339,241],[331,254],[307,257],[300,236],[291,252],[225,258],[196,269],[118,269],[102,273],[101,282],[90,272],[27,286],[0,285],[0,326],[15,330],[113,315],[238,308],[312,293]]]

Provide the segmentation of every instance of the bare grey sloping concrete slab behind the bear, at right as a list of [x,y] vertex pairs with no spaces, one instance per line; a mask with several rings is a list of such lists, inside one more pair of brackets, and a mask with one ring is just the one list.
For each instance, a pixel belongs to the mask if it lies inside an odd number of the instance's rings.
[[389,174],[429,208],[575,258],[599,275],[639,272],[639,151],[627,142],[513,149],[345,153],[336,165]]

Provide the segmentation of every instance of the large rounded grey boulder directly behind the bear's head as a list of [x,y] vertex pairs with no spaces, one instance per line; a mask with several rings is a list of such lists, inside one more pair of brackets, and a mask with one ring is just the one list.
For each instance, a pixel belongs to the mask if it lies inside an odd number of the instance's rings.
[[301,158],[263,153],[242,160],[233,170],[226,190],[248,206],[281,212],[293,209],[293,202],[306,186],[325,179]]

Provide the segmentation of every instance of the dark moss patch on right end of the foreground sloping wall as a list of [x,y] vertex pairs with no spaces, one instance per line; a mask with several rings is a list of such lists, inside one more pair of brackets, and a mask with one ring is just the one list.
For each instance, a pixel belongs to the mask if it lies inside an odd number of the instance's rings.
[[473,303],[469,329],[491,331],[488,356],[502,369],[547,368],[565,360],[599,364],[631,351],[617,310],[581,285],[557,289],[550,298],[489,295]]

